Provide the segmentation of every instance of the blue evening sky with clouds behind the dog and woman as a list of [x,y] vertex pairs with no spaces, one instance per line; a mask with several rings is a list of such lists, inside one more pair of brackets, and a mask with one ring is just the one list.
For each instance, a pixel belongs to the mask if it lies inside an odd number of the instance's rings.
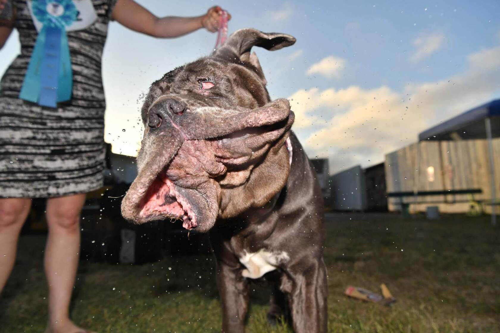
[[[293,35],[293,46],[253,50],[271,98],[290,99],[293,131],[309,157],[329,159],[330,173],[380,163],[419,132],[500,98],[498,0],[137,2],[157,16],[194,16],[218,4],[232,15],[229,33]],[[156,39],[109,24],[105,140],[114,152],[139,148],[139,109],[151,82],[207,55],[215,39],[204,30]],[[0,73],[18,51],[13,33]]]

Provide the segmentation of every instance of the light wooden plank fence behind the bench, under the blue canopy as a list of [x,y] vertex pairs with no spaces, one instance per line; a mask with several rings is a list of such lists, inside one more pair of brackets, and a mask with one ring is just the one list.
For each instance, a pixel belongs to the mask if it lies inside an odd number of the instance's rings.
[[[496,196],[500,196],[500,139],[493,140],[496,175]],[[420,142],[420,162],[417,166],[417,143],[385,156],[387,192],[460,190],[480,188],[474,198],[491,199],[488,147],[486,140],[423,141]],[[418,171],[416,171],[418,169]],[[411,211],[425,211],[427,206],[439,206],[441,212],[459,213],[468,209],[466,195],[407,197],[389,199],[389,211],[399,210],[401,202],[414,203]],[[420,203],[420,204],[419,204]],[[485,205],[484,211],[491,212]]]

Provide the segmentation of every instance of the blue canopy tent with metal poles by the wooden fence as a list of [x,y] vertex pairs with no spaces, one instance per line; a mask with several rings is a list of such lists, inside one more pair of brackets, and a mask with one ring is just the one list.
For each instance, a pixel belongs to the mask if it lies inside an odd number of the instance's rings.
[[[487,139],[489,167],[491,172],[491,224],[496,224],[496,193],[495,169],[493,160],[492,138],[500,137],[500,99],[493,100],[456,117],[440,123],[418,134],[418,142],[434,140],[467,140]],[[417,146],[417,165],[420,164],[419,149]],[[415,169],[418,170],[418,167]],[[416,173],[418,171],[415,171]],[[414,192],[418,191],[418,174],[416,174]]]

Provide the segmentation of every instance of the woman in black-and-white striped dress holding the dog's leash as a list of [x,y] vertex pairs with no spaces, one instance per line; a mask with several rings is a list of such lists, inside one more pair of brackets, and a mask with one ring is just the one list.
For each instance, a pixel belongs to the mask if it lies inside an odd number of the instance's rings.
[[[0,11],[6,1],[0,0]],[[77,13],[74,21],[80,25],[66,27],[71,99],[51,108],[19,98],[38,35],[34,19],[38,16],[31,17],[34,10],[28,5],[43,4],[47,12],[53,5],[52,10],[59,15],[57,10],[61,8],[57,6],[64,1],[13,0],[16,15],[11,24],[0,26],[0,48],[14,27],[21,43],[21,53],[0,85],[0,292],[14,265],[17,239],[31,198],[47,198],[46,333],[84,333],[70,321],[68,307],[78,263],[79,217],[85,193],[101,187],[103,180],[101,55],[107,24],[116,20],[150,36],[171,38],[199,28],[216,31],[222,10],[215,6],[197,17],[158,18],[133,0],[73,0],[70,5]]]

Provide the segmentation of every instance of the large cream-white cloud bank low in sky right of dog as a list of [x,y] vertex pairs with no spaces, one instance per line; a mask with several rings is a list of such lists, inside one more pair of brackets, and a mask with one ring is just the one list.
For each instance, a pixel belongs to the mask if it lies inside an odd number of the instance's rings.
[[331,172],[381,162],[426,128],[498,96],[500,47],[470,54],[467,62],[459,74],[401,92],[387,86],[298,90],[289,97],[293,129],[309,156],[330,159]]

